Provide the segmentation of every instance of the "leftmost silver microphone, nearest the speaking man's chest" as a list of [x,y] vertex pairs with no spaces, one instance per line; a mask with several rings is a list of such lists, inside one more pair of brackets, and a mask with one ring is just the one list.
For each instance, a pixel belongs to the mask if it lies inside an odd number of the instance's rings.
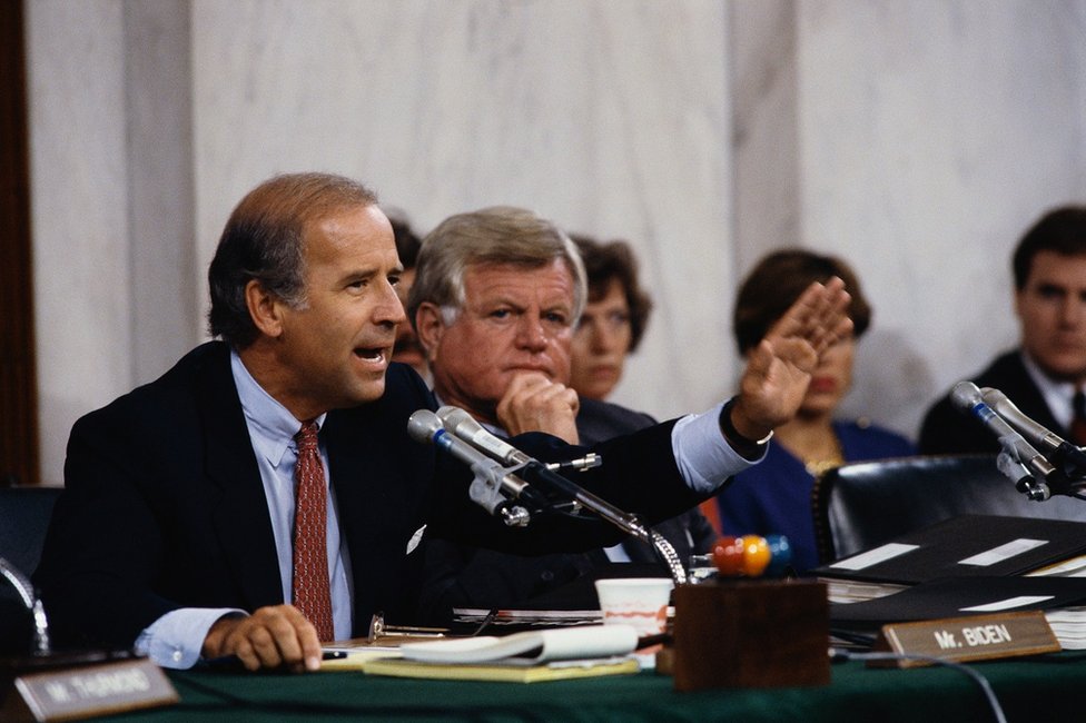
[[468,493],[472,501],[492,515],[503,517],[505,524],[522,526],[529,522],[527,511],[513,506],[510,498],[523,497],[532,504],[545,504],[526,482],[448,434],[442,420],[430,409],[418,409],[411,415],[407,419],[407,434],[416,442],[435,445],[471,467],[475,474]]

